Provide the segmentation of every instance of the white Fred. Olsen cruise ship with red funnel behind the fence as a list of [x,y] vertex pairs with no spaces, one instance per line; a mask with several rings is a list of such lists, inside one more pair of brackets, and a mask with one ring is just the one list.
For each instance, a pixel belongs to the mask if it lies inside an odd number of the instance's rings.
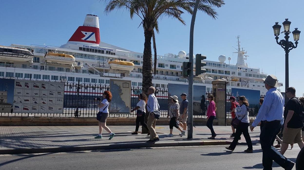
[[[267,74],[245,63],[247,52],[240,47],[239,36],[237,40],[237,63],[230,64],[231,57],[227,58],[227,63],[224,55],[219,55],[219,61],[205,60],[207,72],[195,77],[194,85],[206,86],[206,91],[211,91],[211,82],[222,79],[228,82],[228,92],[231,88],[243,88],[259,90],[261,95],[266,93],[262,78]],[[181,72],[182,63],[189,61],[189,54],[179,51],[154,57],[157,57],[154,87],[168,88],[168,83],[188,84]],[[143,53],[101,42],[98,16],[86,15],[83,25],[60,47],[0,46],[0,66],[2,78],[96,84],[109,84],[110,78],[119,78],[131,80],[132,86],[142,86]]]

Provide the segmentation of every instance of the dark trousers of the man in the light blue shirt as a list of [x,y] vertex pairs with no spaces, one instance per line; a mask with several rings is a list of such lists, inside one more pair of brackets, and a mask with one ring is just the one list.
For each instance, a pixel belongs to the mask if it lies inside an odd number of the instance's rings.
[[262,127],[260,141],[263,151],[262,163],[264,170],[272,169],[272,161],[275,161],[282,168],[286,168],[291,163],[289,159],[285,158],[272,146],[281,127],[280,121],[277,120],[264,123],[264,126]]

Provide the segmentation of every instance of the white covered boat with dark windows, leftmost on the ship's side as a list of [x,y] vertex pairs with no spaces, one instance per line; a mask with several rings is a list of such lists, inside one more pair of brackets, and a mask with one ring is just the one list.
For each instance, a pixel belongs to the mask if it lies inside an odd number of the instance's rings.
[[25,48],[0,46],[0,59],[6,61],[33,61],[34,55]]

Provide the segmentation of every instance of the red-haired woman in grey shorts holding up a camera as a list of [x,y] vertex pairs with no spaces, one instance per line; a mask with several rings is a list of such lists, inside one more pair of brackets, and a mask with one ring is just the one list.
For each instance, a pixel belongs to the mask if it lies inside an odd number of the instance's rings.
[[99,107],[99,112],[97,113],[97,120],[99,125],[99,134],[95,137],[95,139],[101,139],[102,136],[102,129],[105,129],[107,132],[109,132],[110,137],[109,140],[111,140],[115,134],[112,133],[112,131],[107,127],[106,121],[109,116],[109,104],[112,99],[112,93],[110,91],[104,91],[102,94],[102,102],[100,100],[95,99],[95,102],[97,102],[97,106]]

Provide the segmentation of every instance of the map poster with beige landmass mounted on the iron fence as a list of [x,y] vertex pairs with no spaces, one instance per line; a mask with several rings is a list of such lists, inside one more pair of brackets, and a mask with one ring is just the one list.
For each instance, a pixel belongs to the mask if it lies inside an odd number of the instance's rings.
[[130,114],[131,81],[110,79],[112,101],[109,106],[110,114]]

